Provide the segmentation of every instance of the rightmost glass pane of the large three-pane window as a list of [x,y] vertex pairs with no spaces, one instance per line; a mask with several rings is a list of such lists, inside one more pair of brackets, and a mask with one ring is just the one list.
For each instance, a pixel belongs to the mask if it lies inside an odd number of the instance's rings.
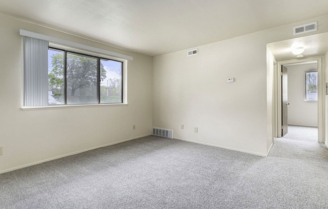
[[100,60],[100,103],[122,103],[123,63]]

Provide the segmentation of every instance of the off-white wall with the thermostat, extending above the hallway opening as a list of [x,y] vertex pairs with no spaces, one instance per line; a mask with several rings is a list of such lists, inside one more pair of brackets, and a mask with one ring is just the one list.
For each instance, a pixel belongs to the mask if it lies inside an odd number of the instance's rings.
[[323,16],[194,47],[196,56],[183,50],[154,57],[153,126],[173,129],[178,139],[266,155],[273,132],[266,44],[294,38],[292,28],[311,21],[320,27],[306,35],[328,31]]

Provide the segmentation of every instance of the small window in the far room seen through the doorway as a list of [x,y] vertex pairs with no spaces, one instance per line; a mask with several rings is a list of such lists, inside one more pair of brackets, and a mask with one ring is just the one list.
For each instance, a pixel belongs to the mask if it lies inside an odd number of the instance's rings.
[[305,101],[318,100],[318,72],[305,72]]

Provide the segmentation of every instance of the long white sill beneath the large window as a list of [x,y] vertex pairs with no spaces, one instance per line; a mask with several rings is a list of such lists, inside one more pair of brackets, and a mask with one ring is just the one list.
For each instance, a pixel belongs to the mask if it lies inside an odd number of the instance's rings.
[[106,103],[106,104],[57,104],[52,106],[21,107],[22,111],[67,109],[67,108],[94,108],[110,106],[128,106],[127,103]]

